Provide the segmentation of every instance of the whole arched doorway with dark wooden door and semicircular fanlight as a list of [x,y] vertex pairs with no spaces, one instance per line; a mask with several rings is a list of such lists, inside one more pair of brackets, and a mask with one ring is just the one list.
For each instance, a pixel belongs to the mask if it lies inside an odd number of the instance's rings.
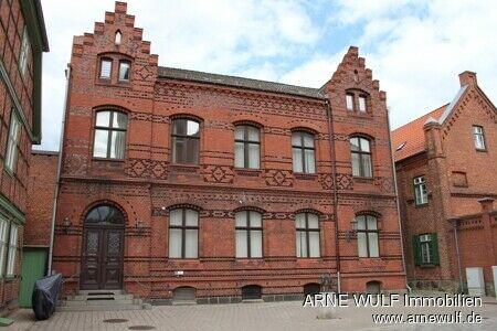
[[125,217],[110,204],[93,207],[85,217],[82,289],[120,289]]

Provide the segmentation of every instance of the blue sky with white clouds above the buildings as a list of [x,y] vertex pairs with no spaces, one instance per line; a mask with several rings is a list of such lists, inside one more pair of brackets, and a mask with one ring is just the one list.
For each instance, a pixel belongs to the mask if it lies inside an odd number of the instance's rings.
[[[44,150],[59,150],[73,35],[93,32],[114,0],[41,0]],[[159,65],[320,87],[350,45],[387,92],[396,128],[450,103],[477,73],[497,104],[497,1],[129,0]]]

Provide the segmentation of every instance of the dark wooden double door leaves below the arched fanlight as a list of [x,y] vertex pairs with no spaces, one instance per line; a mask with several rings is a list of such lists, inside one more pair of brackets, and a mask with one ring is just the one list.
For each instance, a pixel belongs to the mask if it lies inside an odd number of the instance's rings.
[[85,226],[82,289],[123,288],[123,226]]

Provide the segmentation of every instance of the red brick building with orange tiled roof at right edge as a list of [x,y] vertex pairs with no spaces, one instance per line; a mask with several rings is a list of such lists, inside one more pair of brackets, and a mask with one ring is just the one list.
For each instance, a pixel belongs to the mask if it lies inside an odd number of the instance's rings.
[[459,81],[452,103],[392,132],[408,279],[454,290],[466,267],[484,267],[493,293],[497,114],[475,73]]

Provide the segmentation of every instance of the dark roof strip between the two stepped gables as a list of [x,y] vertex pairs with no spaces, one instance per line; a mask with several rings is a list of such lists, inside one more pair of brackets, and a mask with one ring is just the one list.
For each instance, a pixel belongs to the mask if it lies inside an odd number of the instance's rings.
[[295,86],[275,82],[251,79],[236,76],[210,74],[197,71],[159,66],[159,78],[182,79],[207,84],[218,84],[230,87],[248,88],[272,93],[283,93],[296,96],[325,99],[325,94],[318,88]]

